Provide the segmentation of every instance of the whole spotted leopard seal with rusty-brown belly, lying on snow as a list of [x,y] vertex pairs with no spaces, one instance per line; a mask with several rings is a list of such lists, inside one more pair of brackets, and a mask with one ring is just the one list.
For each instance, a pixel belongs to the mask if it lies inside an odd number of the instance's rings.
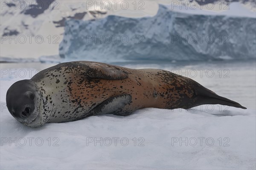
[[29,127],[107,113],[125,116],[145,107],[188,109],[222,104],[246,109],[166,70],[90,61],[60,63],[30,80],[17,81],[7,91],[6,104],[12,116]]

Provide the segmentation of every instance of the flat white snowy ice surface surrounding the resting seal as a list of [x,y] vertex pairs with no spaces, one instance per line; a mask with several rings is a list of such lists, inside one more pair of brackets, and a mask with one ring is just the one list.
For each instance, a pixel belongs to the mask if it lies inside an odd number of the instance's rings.
[[[0,169],[256,168],[255,61],[122,63],[131,68],[161,68],[187,76],[192,74],[186,70],[205,69],[202,76],[197,72],[192,79],[239,102],[246,110],[220,105],[212,105],[213,110],[207,105],[197,110],[145,108],[126,117],[101,115],[39,128],[26,127],[8,112],[6,91],[15,81],[31,78],[30,69],[36,68],[31,71],[35,74],[52,65],[1,63]],[[22,69],[25,76],[21,76]],[[215,73],[212,78],[205,75],[207,69]],[[220,78],[219,69],[222,73],[228,69],[229,78],[223,74]]]

